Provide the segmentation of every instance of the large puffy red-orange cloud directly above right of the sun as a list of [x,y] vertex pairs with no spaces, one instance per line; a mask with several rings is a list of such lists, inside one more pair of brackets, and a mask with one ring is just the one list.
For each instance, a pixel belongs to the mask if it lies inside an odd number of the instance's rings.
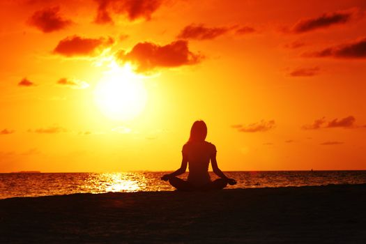
[[130,52],[119,52],[117,59],[131,62],[136,71],[146,73],[155,68],[172,68],[193,65],[201,61],[202,56],[194,54],[188,49],[188,42],[177,40],[167,45],[155,43],[137,43]]

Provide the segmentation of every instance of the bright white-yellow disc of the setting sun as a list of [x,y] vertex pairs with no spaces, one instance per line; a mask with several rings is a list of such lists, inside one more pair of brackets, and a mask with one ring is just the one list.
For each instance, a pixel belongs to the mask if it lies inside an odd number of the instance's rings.
[[141,114],[146,105],[146,89],[142,78],[126,63],[112,61],[110,70],[96,86],[96,102],[111,119],[129,120]]

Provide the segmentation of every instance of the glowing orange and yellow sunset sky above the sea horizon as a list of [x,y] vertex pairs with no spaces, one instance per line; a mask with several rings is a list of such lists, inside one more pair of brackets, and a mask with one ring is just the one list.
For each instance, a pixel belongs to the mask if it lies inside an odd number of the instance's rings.
[[0,172],[366,169],[366,1],[0,3]]

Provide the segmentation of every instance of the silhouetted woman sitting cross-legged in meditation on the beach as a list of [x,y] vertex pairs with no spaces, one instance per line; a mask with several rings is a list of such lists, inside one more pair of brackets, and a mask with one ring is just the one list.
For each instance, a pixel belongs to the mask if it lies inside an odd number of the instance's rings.
[[[163,181],[168,181],[178,190],[221,190],[227,184],[235,185],[234,178],[227,178],[218,167],[216,162],[216,147],[210,142],[206,142],[207,126],[204,121],[195,121],[190,130],[190,139],[184,144],[182,149],[182,164],[179,169],[171,174],[162,176]],[[220,178],[211,181],[208,174],[208,165],[210,164],[213,173]],[[176,176],[183,174],[189,165],[188,180],[185,181]]]

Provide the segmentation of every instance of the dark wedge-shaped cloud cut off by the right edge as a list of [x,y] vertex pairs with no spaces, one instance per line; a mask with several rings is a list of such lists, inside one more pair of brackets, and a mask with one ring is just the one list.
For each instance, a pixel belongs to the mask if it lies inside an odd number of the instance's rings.
[[336,47],[328,47],[318,52],[304,54],[313,57],[333,57],[338,59],[366,59],[366,38]]

